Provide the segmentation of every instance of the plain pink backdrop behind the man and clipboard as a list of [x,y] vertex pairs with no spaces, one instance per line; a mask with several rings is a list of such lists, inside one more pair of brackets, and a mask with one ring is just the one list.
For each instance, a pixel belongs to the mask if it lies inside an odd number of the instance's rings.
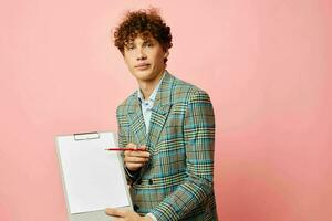
[[116,129],[136,82],[111,28],[148,4],[168,71],[211,96],[220,220],[332,220],[329,0],[2,0],[0,220],[66,220],[53,138]]

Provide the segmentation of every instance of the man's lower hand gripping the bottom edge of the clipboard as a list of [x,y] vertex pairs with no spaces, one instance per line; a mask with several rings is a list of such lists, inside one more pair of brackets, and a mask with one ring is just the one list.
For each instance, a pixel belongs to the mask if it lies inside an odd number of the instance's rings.
[[153,221],[149,217],[141,217],[138,213],[128,209],[107,208],[106,214],[114,217],[114,220],[121,221]]

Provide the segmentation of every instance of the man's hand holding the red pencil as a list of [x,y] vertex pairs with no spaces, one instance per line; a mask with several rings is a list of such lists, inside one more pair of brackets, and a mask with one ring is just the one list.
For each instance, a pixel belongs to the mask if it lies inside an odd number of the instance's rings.
[[135,144],[129,143],[126,148],[139,149],[138,151],[125,150],[124,162],[128,170],[137,171],[149,160],[149,152],[146,151],[146,146],[143,145],[137,148]]

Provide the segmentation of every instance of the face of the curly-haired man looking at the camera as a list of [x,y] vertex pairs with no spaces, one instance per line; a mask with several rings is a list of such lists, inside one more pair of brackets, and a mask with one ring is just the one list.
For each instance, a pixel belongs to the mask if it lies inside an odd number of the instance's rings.
[[158,80],[165,70],[164,59],[168,56],[160,43],[153,36],[142,39],[137,35],[124,48],[124,60],[138,83]]

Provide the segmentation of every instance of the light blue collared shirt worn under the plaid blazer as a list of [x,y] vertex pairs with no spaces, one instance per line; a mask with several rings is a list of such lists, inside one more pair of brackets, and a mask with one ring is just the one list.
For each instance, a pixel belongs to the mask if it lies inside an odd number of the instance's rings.
[[151,119],[151,115],[152,115],[152,108],[154,106],[154,102],[156,99],[157,92],[163,82],[164,76],[165,76],[165,71],[164,71],[164,74],[163,74],[159,83],[154,88],[153,93],[149,95],[149,97],[147,99],[143,98],[141,88],[137,90],[137,96],[138,96],[138,101],[141,102],[141,108],[142,108],[144,123],[145,123],[146,134],[148,133],[148,128],[149,128],[149,119]]

